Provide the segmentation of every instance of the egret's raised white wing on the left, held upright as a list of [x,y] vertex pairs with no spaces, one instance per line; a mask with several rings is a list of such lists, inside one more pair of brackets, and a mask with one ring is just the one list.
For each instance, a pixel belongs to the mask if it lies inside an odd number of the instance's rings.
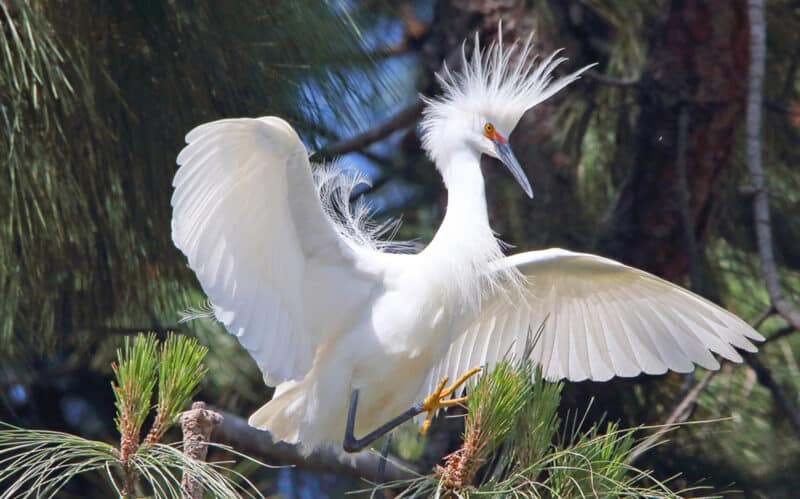
[[306,149],[285,121],[215,121],[186,142],[173,241],[265,380],[301,378],[337,331],[331,311],[369,295],[374,282],[356,270],[364,256],[325,214]]

